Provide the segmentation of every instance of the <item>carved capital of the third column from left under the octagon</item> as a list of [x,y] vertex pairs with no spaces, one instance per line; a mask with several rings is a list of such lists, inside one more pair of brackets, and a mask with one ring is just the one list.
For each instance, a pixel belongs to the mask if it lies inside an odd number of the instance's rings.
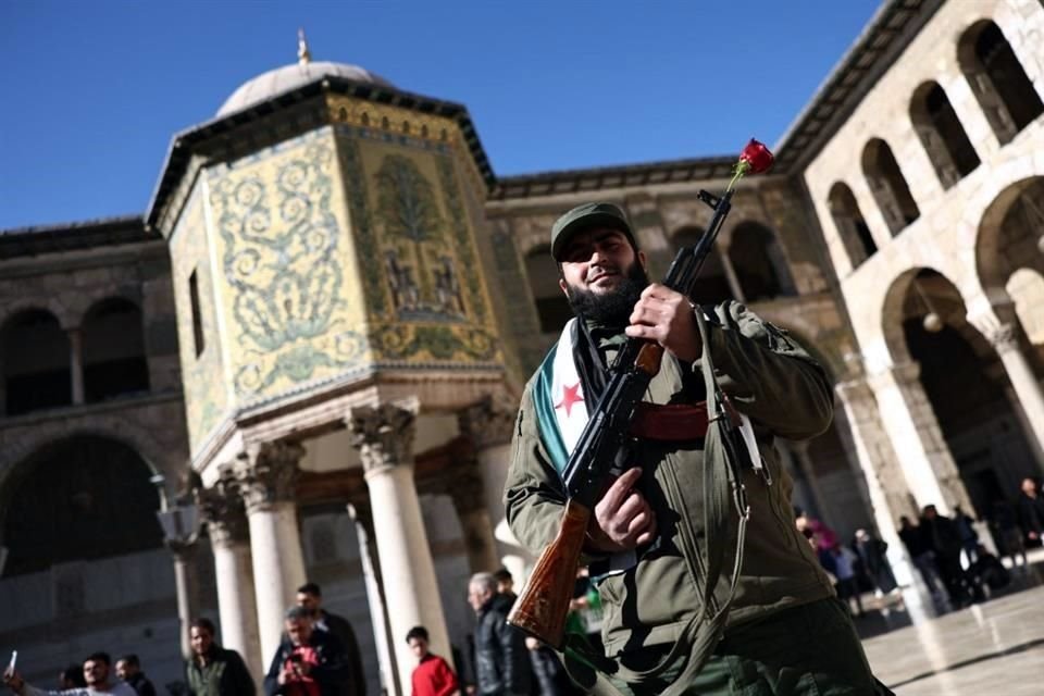
[[351,433],[351,446],[359,450],[366,476],[398,464],[412,463],[419,410],[417,399],[349,410],[346,423]]

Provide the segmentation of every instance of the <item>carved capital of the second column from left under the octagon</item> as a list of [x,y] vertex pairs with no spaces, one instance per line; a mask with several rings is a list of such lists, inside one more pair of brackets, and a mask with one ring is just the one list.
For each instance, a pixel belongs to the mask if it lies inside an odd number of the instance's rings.
[[236,458],[232,471],[248,514],[294,499],[300,474],[297,463],[303,456],[301,444],[277,440],[251,447]]

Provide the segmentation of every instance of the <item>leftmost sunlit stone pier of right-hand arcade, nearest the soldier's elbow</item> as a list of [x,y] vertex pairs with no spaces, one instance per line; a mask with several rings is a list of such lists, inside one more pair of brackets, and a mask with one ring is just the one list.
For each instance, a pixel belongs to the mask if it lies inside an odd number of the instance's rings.
[[903,588],[903,600],[910,619],[915,623],[922,623],[934,613],[932,595],[915,574],[913,563],[899,538],[897,526],[903,515],[917,519],[912,496],[883,432],[878,418],[878,405],[867,382],[862,378],[843,382],[837,385],[836,391],[852,427],[856,459],[867,482],[878,535],[888,545],[888,563]]

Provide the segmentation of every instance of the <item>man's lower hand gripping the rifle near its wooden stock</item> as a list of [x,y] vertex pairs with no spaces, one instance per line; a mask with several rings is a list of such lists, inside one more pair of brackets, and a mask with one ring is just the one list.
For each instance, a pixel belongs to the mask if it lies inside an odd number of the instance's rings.
[[634,485],[641,469],[629,469],[612,482],[595,506],[587,526],[588,546],[597,551],[630,551],[656,538],[656,515]]

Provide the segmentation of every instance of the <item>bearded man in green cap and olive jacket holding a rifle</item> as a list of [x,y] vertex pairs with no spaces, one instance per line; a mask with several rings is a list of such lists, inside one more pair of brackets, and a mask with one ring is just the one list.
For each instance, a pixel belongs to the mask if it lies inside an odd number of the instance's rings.
[[[664,348],[632,423],[630,459],[587,529],[583,562],[602,602],[605,654],[567,659],[574,680],[592,693],[643,696],[888,693],[795,529],[793,482],[772,447],[775,437],[808,439],[830,426],[833,390],[823,369],[738,302],[700,307],[649,284],[645,254],[617,206],[563,214],[551,228],[551,256],[575,318],[526,385],[505,487],[511,530],[532,551],[558,533],[562,470],[607,365],[627,338]],[[711,374],[742,423],[747,464],[750,514],[736,573],[737,525],[716,538],[704,522],[705,488],[726,475],[720,440],[708,431]],[[709,558],[723,559],[720,574],[708,572]]]

